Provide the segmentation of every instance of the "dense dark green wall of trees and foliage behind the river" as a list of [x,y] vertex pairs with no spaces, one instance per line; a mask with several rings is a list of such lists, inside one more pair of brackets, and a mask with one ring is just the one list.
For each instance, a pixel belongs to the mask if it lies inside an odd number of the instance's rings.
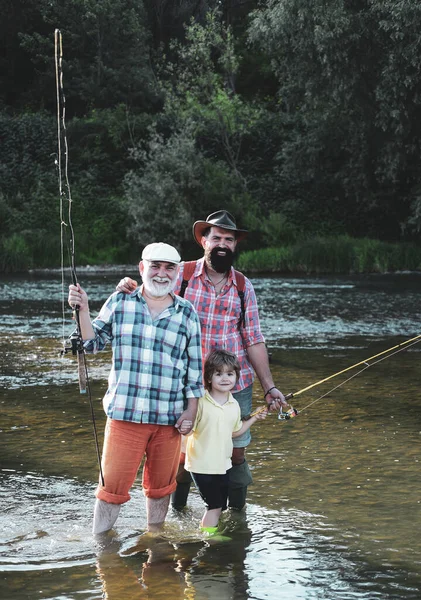
[[421,5],[0,5],[0,270],[60,262],[56,28],[79,263],[197,256],[191,224],[223,207],[248,268],[419,268]]

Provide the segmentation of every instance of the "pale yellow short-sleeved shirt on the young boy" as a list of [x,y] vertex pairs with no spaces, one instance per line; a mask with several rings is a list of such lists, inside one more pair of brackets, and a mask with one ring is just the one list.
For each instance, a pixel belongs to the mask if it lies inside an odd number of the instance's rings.
[[185,468],[221,475],[232,467],[232,434],[241,429],[241,411],[232,394],[222,406],[209,392],[199,399],[193,433],[187,438]]

